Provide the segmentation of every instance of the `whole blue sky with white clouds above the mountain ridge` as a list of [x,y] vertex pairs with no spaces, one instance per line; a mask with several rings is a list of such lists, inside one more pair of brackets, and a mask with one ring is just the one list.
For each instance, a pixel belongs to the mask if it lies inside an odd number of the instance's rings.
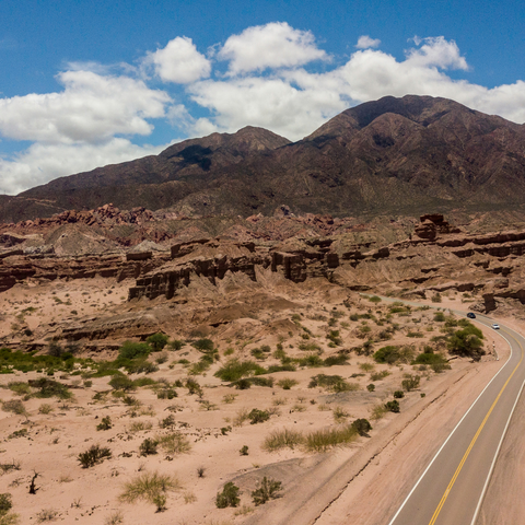
[[525,2],[2,0],[0,191],[385,95],[525,122]]

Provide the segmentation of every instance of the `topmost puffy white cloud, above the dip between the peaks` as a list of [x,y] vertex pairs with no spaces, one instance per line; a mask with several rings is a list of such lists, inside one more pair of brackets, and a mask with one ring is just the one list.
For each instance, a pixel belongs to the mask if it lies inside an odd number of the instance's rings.
[[292,68],[328,56],[315,45],[310,31],[294,30],[285,22],[272,22],[232,35],[218,54],[230,60],[231,74],[262,71],[267,68]]

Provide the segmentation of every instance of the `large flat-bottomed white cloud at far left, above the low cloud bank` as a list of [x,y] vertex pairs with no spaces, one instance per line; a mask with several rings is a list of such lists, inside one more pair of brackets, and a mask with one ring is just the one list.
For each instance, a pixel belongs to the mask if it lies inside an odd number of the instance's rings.
[[0,133],[16,140],[100,142],[116,133],[149,135],[148,118],[164,116],[171,102],[162,91],[128,77],[92,71],[58,74],[60,93],[0,100]]

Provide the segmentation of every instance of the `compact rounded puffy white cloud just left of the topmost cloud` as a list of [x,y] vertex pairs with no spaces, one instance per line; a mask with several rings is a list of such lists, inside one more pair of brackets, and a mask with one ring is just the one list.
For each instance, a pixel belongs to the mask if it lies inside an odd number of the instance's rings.
[[152,63],[164,82],[187,84],[210,75],[211,63],[201,55],[191,38],[177,36],[166,47],[148,54],[144,63]]

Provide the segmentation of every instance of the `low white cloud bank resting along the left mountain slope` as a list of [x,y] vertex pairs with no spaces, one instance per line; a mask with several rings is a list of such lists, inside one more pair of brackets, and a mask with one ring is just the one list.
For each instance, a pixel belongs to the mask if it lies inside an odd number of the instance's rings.
[[65,175],[158,154],[168,145],[140,147],[119,138],[104,144],[35,143],[13,160],[0,158],[0,189],[18,194]]

